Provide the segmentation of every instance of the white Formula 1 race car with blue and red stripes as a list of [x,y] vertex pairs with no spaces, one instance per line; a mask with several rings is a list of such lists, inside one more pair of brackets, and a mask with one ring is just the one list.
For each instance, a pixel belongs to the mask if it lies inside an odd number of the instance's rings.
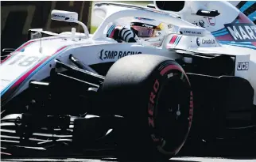
[[[4,49],[2,155],[114,148],[169,159],[190,129],[200,138],[253,136],[255,24],[228,2],[183,2],[177,13],[169,3],[96,3],[106,17],[92,35],[77,13],[52,10],[52,20],[84,33],[30,29],[28,42]],[[138,15],[175,28],[160,47],[107,37],[110,24]]]

